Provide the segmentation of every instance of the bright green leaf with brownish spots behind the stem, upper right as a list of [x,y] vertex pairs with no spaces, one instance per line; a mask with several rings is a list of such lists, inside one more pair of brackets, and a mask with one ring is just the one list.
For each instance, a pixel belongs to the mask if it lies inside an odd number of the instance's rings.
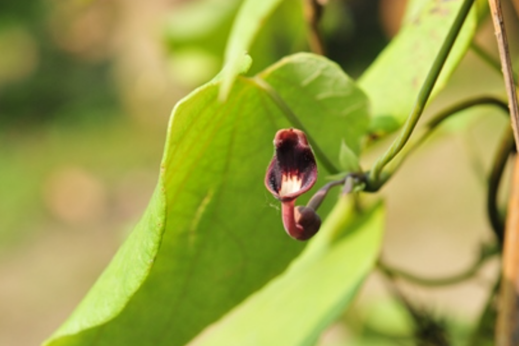
[[[372,101],[375,132],[391,132],[407,118],[463,0],[413,2],[407,21],[359,80]],[[477,24],[471,10],[436,82],[437,93],[467,51]]]

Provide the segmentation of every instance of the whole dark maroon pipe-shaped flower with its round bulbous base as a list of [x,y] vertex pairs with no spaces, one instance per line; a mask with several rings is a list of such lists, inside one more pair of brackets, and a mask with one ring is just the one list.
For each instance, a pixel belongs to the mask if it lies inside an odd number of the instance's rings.
[[265,175],[265,186],[281,201],[283,226],[294,239],[307,240],[321,227],[311,207],[298,206],[295,199],[317,181],[317,164],[306,135],[297,129],[279,130],[274,137],[276,152]]

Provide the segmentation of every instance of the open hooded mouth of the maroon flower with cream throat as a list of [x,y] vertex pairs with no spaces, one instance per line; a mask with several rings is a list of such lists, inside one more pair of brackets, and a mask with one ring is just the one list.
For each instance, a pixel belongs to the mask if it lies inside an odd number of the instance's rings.
[[265,175],[265,186],[280,201],[294,200],[316,183],[316,159],[301,130],[279,130],[274,146],[276,151]]

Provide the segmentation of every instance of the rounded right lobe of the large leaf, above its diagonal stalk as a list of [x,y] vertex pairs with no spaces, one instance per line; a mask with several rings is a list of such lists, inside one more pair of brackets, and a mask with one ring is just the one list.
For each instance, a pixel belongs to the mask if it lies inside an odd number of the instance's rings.
[[[339,79],[338,74],[344,77]],[[294,75],[299,78],[292,85],[289,78]],[[319,145],[327,148],[330,158],[339,157],[343,139],[354,153],[360,153],[364,132],[359,129],[368,126],[368,100],[338,65],[313,54],[299,53],[267,68],[260,77],[278,91],[297,115],[305,116],[305,127],[319,139]]]

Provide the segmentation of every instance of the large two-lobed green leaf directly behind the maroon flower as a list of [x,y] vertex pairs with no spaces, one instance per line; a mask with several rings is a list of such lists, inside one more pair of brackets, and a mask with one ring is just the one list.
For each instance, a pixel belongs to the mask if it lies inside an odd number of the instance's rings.
[[[291,106],[305,95],[296,113],[313,137],[330,137],[326,152],[338,153],[343,134],[359,147],[367,101],[336,64],[296,54],[259,77]],[[272,137],[290,123],[255,80],[239,77],[225,103],[213,81],[175,106],[146,213],[47,345],[185,344],[303,250],[263,186]]]

